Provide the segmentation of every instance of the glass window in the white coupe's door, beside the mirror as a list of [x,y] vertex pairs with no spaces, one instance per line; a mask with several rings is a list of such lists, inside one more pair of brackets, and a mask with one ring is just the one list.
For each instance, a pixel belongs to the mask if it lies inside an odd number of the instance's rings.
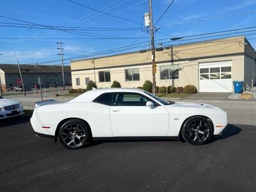
[[148,100],[137,93],[115,93],[113,106],[146,106]]

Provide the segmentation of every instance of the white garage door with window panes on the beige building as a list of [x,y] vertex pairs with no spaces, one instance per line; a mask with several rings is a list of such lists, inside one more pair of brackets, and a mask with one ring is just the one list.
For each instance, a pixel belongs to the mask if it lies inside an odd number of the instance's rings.
[[232,62],[199,63],[199,92],[232,92]]

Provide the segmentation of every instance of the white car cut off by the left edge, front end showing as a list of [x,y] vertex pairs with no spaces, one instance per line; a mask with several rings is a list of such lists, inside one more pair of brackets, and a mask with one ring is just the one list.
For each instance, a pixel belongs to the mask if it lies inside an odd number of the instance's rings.
[[22,114],[24,114],[24,108],[20,102],[0,96],[0,120]]

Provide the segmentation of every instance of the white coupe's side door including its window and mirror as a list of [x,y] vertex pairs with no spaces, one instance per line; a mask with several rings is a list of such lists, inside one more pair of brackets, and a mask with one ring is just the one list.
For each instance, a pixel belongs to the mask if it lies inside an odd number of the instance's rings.
[[149,99],[140,93],[114,93],[109,110],[113,136],[166,136],[169,113],[154,102],[154,108],[146,106]]

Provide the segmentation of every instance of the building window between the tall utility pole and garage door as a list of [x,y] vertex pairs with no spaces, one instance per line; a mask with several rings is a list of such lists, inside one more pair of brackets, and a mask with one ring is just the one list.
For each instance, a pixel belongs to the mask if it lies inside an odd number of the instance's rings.
[[161,66],[160,79],[179,79],[179,65]]

